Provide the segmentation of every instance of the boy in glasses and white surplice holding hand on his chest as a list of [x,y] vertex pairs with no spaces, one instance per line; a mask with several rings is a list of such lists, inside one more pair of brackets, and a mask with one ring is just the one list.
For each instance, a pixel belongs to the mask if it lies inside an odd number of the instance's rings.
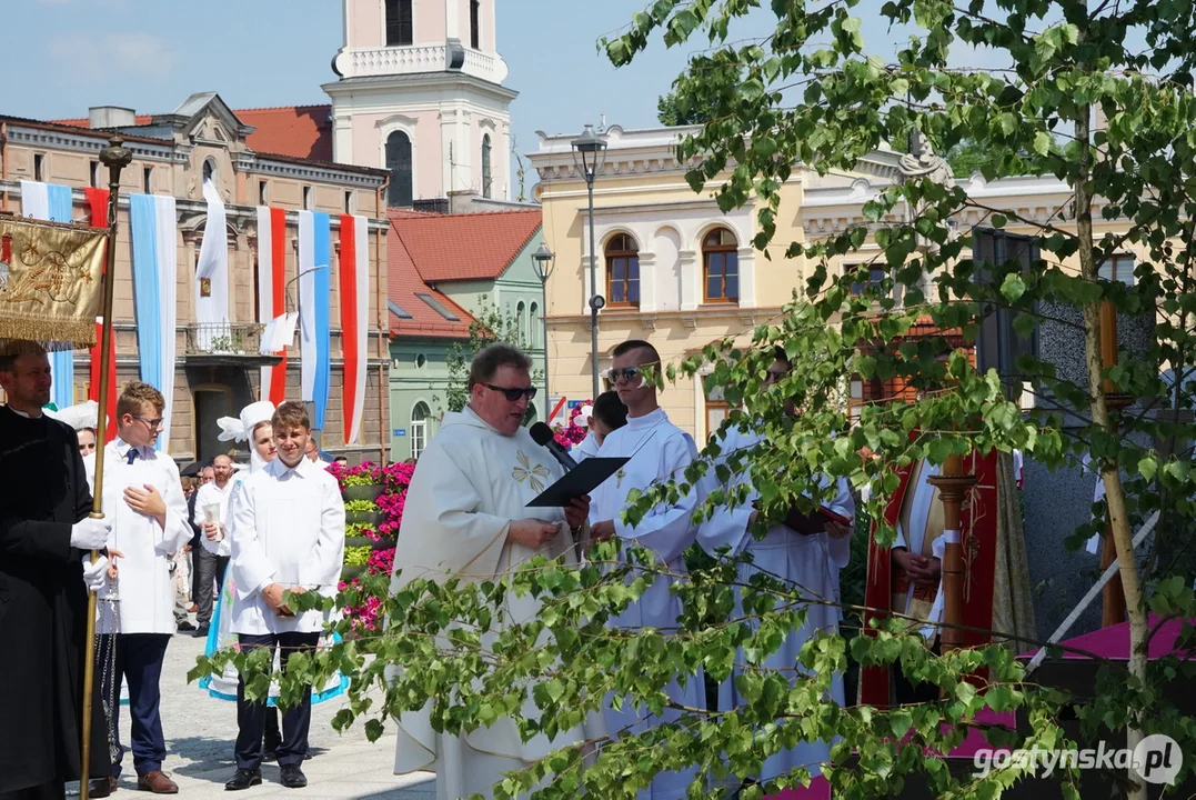
[[[175,459],[154,450],[163,429],[165,399],[150,384],[130,381],[116,401],[116,439],[104,450],[104,512],[112,515],[110,551],[121,554],[109,573],[120,603],[102,610],[97,674],[104,701],[111,703],[116,757],[111,778],[93,781],[90,795],[108,796],[121,774],[121,678],[129,685],[133,767],[138,789],[175,794],[178,786],[161,771],[166,740],[159,704],[163,659],[175,634],[175,581],[170,556],[191,538],[187,499]],[[116,560],[114,558],[114,562]],[[100,598],[105,592],[100,592]],[[115,652],[114,652],[115,648]]]

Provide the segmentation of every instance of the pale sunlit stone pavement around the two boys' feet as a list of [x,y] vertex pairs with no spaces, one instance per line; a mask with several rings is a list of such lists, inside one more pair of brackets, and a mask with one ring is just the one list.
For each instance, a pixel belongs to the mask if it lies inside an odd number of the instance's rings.
[[[321,800],[434,800],[435,777],[429,772],[393,775],[395,735],[384,735],[371,744],[360,722],[343,734],[332,729],[331,720],[344,704],[338,697],[312,707],[311,734],[313,757],[304,762],[307,788],[285,789],[279,786],[277,764],[262,767],[262,786],[239,793],[226,793],[236,765],[233,740],[237,738],[237,706],[209,697],[207,691],[187,683],[187,672],[195,658],[203,654],[203,640],[189,634],[175,636],[166,649],[161,673],[161,721],[166,734],[166,763],[163,769],[178,783],[181,798],[224,798],[255,800],[288,796]],[[128,747],[129,715],[121,714],[121,741]],[[124,774],[115,798],[150,796],[135,793],[133,755],[124,755]],[[75,792],[78,788],[75,787]]]

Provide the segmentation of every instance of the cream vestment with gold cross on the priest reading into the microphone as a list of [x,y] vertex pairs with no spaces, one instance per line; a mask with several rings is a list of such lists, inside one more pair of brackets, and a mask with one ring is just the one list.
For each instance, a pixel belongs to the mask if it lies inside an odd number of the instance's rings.
[[[526,507],[562,475],[556,460],[524,428],[505,436],[469,408],[445,414],[440,430],[420,454],[407,490],[391,591],[416,579],[443,582],[454,576],[481,582],[509,574],[537,554],[575,563],[565,511]],[[529,517],[560,521],[561,533],[538,550],[508,542],[511,521]],[[483,647],[507,623],[532,619],[539,609],[536,598],[508,593],[494,629],[482,639]],[[523,713],[535,719],[539,710],[530,695]],[[557,747],[602,734],[600,720],[594,720],[562,731],[554,740],[541,735],[524,743],[514,725],[504,717],[488,728],[454,737],[435,732],[429,713],[431,703],[399,717],[395,774],[434,770],[439,800],[456,800],[475,792],[490,796],[490,787],[502,778],[502,772],[523,769]]]

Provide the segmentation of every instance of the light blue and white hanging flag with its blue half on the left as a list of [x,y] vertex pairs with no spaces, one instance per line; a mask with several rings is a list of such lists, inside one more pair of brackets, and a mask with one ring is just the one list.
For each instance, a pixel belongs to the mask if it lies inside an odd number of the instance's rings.
[[166,452],[175,398],[175,328],[178,314],[175,199],[130,195],[129,228],[140,373],[141,380],[160,391],[166,401],[163,432],[155,445],[159,451]]

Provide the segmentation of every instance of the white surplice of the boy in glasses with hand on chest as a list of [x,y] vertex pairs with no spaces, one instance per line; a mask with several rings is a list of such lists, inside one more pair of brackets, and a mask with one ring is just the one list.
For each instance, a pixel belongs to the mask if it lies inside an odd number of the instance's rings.
[[[104,514],[112,520],[108,546],[120,550],[123,557],[117,560],[117,613],[106,611],[108,604],[100,603],[97,633],[173,635],[177,591],[170,554],[182,549],[193,535],[187,523],[187,499],[175,459],[153,447],[138,447],[129,464],[132,448],[120,436],[104,448]],[[145,484],[154,487],[166,503],[165,527],[129,508],[124,500],[124,489]]]

